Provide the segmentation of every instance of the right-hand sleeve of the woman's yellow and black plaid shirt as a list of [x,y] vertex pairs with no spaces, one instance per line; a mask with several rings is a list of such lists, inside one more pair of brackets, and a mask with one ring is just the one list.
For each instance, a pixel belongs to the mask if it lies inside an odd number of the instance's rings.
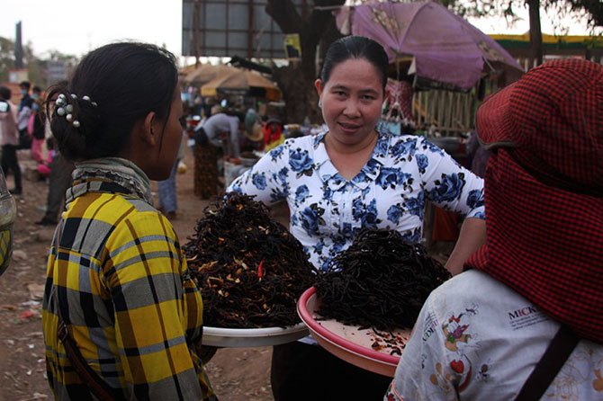
[[185,332],[202,323],[201,293],[186,275],[171,225],[157,213],[136,213],[115,228],[106,249],[103,280],[127,386],[136,398],[208,399]]

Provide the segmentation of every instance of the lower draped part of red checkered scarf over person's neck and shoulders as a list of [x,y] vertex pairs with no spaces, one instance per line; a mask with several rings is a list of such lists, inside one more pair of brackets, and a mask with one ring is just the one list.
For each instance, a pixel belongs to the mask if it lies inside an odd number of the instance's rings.
[[603,199],[536,180],[509,152],[485,177],[487,244],[465,263],[603,343]]

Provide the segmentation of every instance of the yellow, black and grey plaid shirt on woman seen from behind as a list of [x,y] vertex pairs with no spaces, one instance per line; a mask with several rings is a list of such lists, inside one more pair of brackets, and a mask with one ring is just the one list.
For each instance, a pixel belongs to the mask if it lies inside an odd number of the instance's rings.
[[85,399],[87,388],[57,338],[58,297],[85,361],[126,399],[216,399],[195,350],[201,293],[174,228],[148,200],[106,176],[67,192],[49,253],[42,324],[55,397]]

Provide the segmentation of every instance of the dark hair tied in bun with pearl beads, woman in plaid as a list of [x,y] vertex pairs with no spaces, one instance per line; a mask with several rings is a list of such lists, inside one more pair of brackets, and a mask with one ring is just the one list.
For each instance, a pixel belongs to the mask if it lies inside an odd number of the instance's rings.
[[[165,129],[177,82],[175,57],[166,49],[121,42],[91,51],[68,83],[49,89],[46,111],[58,150],[70,160],[117,156],[134,124],[150,111]],[[58,105],[54,111],[50,107],[60,94],[73,108],[68,112],[64,105],[63,115]],[[67,120],[67,113],[79,127]]]

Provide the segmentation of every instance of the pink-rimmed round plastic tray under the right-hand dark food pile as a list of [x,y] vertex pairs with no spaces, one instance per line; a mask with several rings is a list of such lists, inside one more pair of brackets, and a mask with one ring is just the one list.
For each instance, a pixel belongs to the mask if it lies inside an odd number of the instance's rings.
[[[372,344],[379,337],[372,329],[360,329],[354,325],[344,325],[337,320],[317,320],[320,315],[316,312],[320,301],[316,297],[316,289],[306,290],[297,303],[297,313],[303,323],[308,325],[312,337],[327,351],[348,363],[374,373],[393,378],[400,361],[399,355],[391,355],[392,349],[383,348],[375,351]],[[397,337],[405,344],[410,339],[410,330],[396,331]],[[383,342],[380,342],[383,343]]]

